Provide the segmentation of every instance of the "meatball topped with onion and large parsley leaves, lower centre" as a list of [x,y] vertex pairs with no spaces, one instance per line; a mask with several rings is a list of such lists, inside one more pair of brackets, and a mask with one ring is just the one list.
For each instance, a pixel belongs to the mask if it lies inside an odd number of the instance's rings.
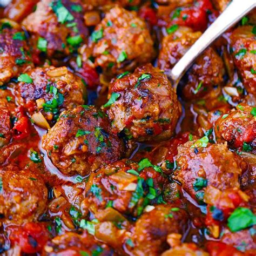
[[[91,173],[82,203],[83,212],[87,213],[90,208],[100,219],[106,206],[111,205],[120,213],[137,216],[142,214],[147,204],[156,204],[161,198],[165,179],[153,169],[152,164],[144,170],[141,170],[141,165],[122,160]],[[147,198],[151,200],[147,202]]]

